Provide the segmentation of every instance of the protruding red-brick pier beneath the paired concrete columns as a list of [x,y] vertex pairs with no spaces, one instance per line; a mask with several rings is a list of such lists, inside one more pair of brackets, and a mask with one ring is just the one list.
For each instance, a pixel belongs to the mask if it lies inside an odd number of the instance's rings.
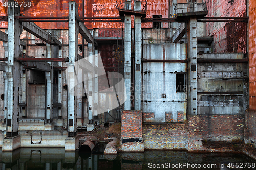
[[142,112],[123,111],[122,112],[122,138],[141,138],[142,137]]

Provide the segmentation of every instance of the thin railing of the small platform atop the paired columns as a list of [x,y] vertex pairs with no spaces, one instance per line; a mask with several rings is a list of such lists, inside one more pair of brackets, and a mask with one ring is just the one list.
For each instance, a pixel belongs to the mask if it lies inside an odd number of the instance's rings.
[[[122,0],[120,2],[120,4],[117,3],[116,1],[116,8],[119,10],[131,10],[131,11],[140,11],[140,12],[145,12],[146,13],[146,9],[147,9],[147,1],[140,1],[141,2],[141,9],[140,10],[137,10],[134,8],[135,6],[135,2],[138,1],[138,0],[130,0],[131,2],[131,9],[129,9],[129,6],[127,5],[127,3],[125,3],[126,1],[125,0]],[[127,1],[129,2],[129,1]]]

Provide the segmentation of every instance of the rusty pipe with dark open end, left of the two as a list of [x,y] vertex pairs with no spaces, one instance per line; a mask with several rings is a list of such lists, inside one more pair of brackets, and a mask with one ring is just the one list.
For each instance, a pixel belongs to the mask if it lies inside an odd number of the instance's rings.
[[95,136],[87,136],[84,138],[86,141],[81,145],[78,152],[80,153],[91,153],[97,144],[98,138]]

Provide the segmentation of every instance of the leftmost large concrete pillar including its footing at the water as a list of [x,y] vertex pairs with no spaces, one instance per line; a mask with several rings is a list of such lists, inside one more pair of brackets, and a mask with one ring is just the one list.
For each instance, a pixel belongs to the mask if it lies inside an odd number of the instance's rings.
[[[12,2],[12,1],[11,1]],[[13,1],[14,2],[14,1]],[[19,57],[20,33],[22,26],[14,18],[20,15],[19,7],[8,7],[8,61],[6,62],[7,78],[7,110],[6,110],[6,137],[3,140],[3,151],[12,151],[20,147],[20,136],[18,135],[19,117],[19,85],[20,72],[22,70],[19,62],[14,57]]]

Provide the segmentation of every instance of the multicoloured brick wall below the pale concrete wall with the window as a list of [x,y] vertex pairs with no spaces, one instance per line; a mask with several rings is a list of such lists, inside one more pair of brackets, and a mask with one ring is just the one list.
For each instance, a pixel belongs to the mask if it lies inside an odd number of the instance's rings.
[[144,149],[185,149],[186,131],[181,123],[144,124]]

